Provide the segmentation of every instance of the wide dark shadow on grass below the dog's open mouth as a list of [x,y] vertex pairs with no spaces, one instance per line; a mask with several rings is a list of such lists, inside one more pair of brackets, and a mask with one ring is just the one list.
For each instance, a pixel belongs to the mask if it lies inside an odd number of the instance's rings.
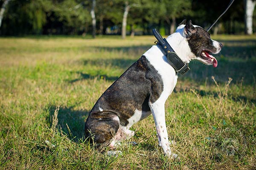
[[[256,60],[240,60],[236,58],[218,58],[218,67],[213,68],[209,65],[203,65],[197,61],[189,63],[190,71],[180,79],[190,79],[195,82],[213,83],[211,77],[214,76],[217,82],[227,82],[228,78],[233,79],[232,83],[241,83],[253,85],[256,82]],[[237,61],[236,61],[237,60]]]

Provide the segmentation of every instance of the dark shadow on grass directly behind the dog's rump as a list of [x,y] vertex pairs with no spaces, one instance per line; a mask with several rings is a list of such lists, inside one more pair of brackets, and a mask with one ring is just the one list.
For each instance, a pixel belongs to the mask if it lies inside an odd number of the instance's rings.
[[[52,127],[53,116],[57,106],[49,107],[49,124]],[[89,115],[87,110],[75,110],[73,107],[59,107],[57,127],[61,129],[67,136],[78,142],[83,138],[85,119]]]

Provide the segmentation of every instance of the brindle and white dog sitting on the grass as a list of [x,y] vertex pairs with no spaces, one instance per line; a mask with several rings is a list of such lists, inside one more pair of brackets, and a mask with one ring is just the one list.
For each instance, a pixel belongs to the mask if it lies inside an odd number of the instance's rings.
[[[211,54],[218,54],[222,44],[191,20],[177,27],[167,41],[183,60],[197,59],[217,67]],[[97,146],[115,147],[134,136],[134,123],[153,114],[159,146],[166,156],[177,157],[170,149],[165,121],[165,102],[177,82],[177,73],[157,45],[153,45],[102,94],[85,122],[85,136],[93,136]]]

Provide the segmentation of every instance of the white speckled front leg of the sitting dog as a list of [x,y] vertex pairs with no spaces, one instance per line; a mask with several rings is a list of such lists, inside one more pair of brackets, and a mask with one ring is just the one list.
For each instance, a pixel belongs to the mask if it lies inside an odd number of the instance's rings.
[[172,158],[176,158],[177,155],[172,153],[170,144],[169,144],[166,122],[165,122],[164,103],[155,102],[153,104],[149,104],[149,106],[151,108],[151,112],[154,117],[159,146],[163,148],[163,152],[166,156],[171,156]]

